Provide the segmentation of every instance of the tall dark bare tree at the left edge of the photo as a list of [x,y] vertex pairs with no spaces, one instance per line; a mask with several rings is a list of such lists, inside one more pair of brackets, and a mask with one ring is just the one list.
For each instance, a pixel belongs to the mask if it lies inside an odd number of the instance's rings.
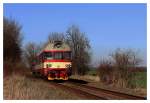
[[[15,20],[3,19],[3,59],[4,75],[10,75],[13,72],[22,71],[22,33],[21,25]],[[21,69],[20,69],[21,68]]]

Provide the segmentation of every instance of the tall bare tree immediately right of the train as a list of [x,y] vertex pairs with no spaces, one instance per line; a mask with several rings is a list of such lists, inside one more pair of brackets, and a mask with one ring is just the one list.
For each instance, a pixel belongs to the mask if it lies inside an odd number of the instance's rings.
[[75,74],[85,74],[90,62],[88,38],[85,36],[85,33],[80,32],[77,26],[72,25],[66,32],[66,42],[72,49],[73,72]]

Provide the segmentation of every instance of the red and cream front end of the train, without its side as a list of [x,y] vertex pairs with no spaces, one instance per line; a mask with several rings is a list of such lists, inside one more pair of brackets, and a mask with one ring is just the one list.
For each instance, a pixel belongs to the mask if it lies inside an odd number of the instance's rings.
[[48,80],[68,80],[71,75],[71,50],[60,41],[55,41],[44,51],[44,75]]

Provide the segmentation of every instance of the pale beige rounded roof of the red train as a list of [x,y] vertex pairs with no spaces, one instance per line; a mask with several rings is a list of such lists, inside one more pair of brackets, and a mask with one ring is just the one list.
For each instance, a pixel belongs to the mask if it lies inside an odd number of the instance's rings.
[[71,48],[65,42],[51,41],[44,46],[39,54],[41,54],[43,51],[71,51]]

